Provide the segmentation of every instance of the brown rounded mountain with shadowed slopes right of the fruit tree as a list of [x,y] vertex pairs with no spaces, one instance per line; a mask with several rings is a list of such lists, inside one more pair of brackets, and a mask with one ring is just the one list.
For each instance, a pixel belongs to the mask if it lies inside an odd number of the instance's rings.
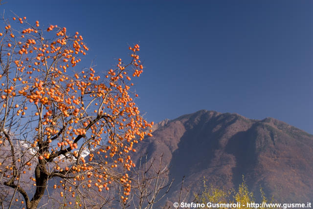
[[190,186],[187,199],[206,184],[238,188],[243,175],[249,190],[281,202],[313,199],[313,135],[273,118],[247,119],[238,114],[200,110],[162,121],[153,127],[153,137],[136,146],[133,157],[163,154],[169,178],[176,181],[166,195],[177,202],[180,181]]

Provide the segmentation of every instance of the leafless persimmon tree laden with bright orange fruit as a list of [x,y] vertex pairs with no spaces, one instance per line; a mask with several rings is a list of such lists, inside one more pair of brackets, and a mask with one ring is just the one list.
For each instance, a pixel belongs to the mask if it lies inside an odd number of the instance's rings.
[[[0,33],[0,201],[37,208],[51,187],[68,207],[94,207],[111,185],[127,201],[134,144],[152,135],[134,102],[131,77],[143,66],[139,45],[130,61],[101,76],[78,69],[89,48],[65,27],[40,28],[26,17],[3,18]],[[101,77],[100,77],[101,76]],[[71,197],[75,201],[68,201]],[[96,201],[94,196],[102,198]]]

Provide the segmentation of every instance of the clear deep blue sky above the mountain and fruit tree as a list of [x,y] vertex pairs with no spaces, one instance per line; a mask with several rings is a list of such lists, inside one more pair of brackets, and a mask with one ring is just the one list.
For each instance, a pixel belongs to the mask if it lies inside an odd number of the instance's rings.
[[149,121],[207,109],[313,133],[312,0],[6,1],[6,17],[79,31],[82,68],[108,70],[139,42],[136,103]]

